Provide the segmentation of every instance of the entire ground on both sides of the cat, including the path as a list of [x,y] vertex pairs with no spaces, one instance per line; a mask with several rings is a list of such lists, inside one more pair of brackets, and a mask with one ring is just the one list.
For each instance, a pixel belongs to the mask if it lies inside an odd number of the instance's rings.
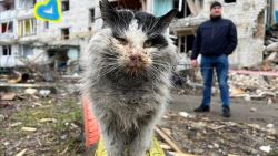
[[[173,94],[160,123],[183,152],[203,156],[278,155],[278,104],[232,100],[232,116],[226,119],[218,98],[212,100],[210,113],[192,113],[200,98]],[[12,101],[0,101],[0,156],[86,153],[78,93],[60,92],[48,97],[18,93]],[[269,153],[265,152],[268,147]]]

